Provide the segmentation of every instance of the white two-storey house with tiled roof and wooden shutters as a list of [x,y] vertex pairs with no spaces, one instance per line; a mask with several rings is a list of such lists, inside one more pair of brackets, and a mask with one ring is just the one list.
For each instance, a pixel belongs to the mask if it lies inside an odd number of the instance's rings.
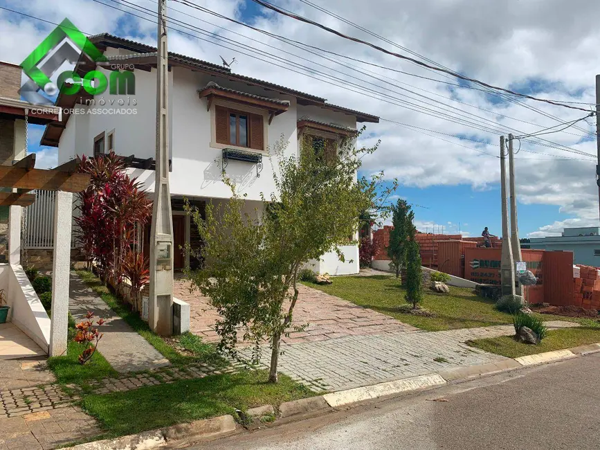
[[[113,65],[130,69],[127,89],[135,93],[89,96],[60,94],[57,105],[73,108],[62,122],[46,127],[42,145],[59,147],[59,163],[76,155],[93,155],[114,150],[134,156],[130,173],[145,188],[154,189],[156,123],[156,48],[128,39],[102,34],[90,38],[104,51],[108,66],[78,64],[82,73]],[[107,63],[104,63],[107,64]],[[298,154],[304,135],[316,145],[335,148],[345,136],[356,134],[356,123],[377,123],[379,118],[352,109],[330,105],[325,98],[232,73],[230,69],[192,57],[170,53],[170,192],[172,197],[176,248],[201,240],[190,218],[183,212],[183,197],[200,210],[207,201],[215,204],[230,197],[230,188],[221,173],[233,179],[240,194],[246,195],[246,210],[262,213],[260,193],[275,191],[272,165],[267,150],[282,139],[288,155]],[[125,81],[122,77],[120,82]],[[81,92],[84,92],[83,90]],[[136,109],[137,114],[90,114],[94,108]],[[125,111],[127,113],[127,111]],[[131,111],[129,111],[131,112]],[[147,235],[149,235],[147,233]],[[323,255],[313,266],[319,273],[358,273],[358,248],[344,246],[345,261],[335,252]],[[175,268],[181,269],[189,255],[179,252]],[[350,262],[352,260],[352,262]],[[192,265],[194,261],[191,261]]]

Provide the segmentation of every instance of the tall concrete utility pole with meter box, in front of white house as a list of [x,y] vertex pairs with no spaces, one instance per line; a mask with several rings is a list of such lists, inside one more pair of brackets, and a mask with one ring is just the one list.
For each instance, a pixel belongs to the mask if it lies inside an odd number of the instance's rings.
[[149,326],[161,336],[173,333],[173,218],[169,192],[169,91],[167,0],[158,0],[156,62],[156,170],[150,233]]

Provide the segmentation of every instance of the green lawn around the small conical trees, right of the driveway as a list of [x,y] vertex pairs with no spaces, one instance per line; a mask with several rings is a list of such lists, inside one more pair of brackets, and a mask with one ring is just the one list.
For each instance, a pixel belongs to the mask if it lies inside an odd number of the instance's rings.
[[399,312],[399,305],[406,303],[406,291],[401,287],[400,280],[393,276],[343,276],[333,278],[332,285],[306,284],[422,330],[454,330],[512,323],[510,314],[493,309],[493,301],[476,296],[473,289],[450,287],[450,294],[424,291],[421,306],[435,313],[435,317],[420,317]]

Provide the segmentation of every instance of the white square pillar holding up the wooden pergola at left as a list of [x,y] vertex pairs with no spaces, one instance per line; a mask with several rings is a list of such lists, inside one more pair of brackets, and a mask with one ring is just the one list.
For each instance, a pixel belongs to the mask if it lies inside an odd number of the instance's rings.
[[66,352],[72,216],[73,193],[57,191],[54,209],[54,259],[52,262],[51,357]]

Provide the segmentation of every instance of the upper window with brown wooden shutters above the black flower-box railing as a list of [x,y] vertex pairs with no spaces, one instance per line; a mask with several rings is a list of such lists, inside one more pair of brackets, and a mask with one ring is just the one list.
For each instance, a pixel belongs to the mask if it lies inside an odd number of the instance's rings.
[[264,125],[260,114],[215,106],[217,143],[264,150]]

